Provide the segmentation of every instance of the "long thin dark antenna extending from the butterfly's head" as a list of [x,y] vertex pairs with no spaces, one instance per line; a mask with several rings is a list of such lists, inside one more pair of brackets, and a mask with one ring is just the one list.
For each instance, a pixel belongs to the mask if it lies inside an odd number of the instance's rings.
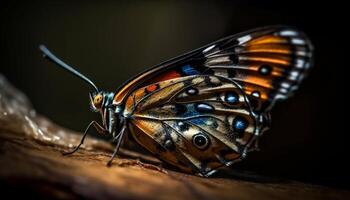
[[63,69],[67,70],[68,72],[74,74],[75,76],[79,77],[80,79],[82,79],[83,81],[87,82],[88,84],[90,84],[95,90],[96,92],[98,92],[98,88],[96,87],[96,85],[90,80],[88,79],[86,76],[82,75],[80,72],[78,72],[77,70],[75,70],[73,67],[67,65],[66,63],[64,63],[62,60],[60,60],[59,58],[57,58],[55,55],[53,55],[47,48],[45,45],[40,45],[39,46],[40,51],[43,53],[43,57],[47,58],[48,60],[50,60],[51,62],[55,63],[56,65],[62,67]]

